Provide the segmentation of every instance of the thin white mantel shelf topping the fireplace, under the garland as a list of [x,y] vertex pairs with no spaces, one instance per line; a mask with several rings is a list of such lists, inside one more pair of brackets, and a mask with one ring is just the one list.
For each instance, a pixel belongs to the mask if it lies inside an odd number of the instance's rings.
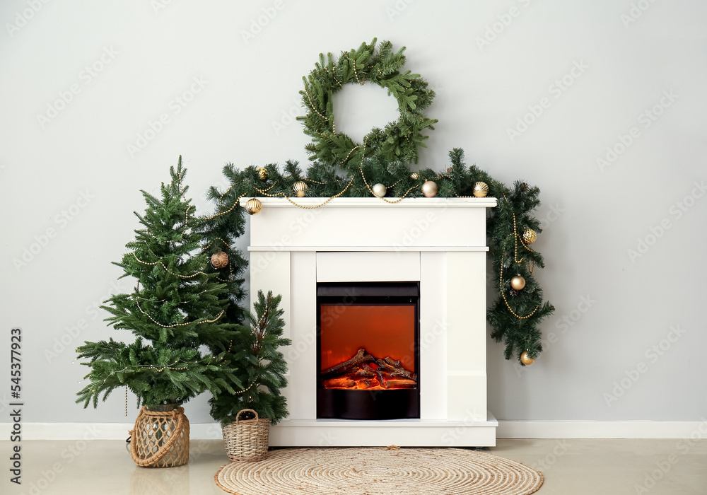
[[[240,199],[240,204],[245,205],[248,201],[248,197]],[[260,202],[262,202],[264,208],[295,208],[293,205],[285,198],[275,198],[275,197],[258,197]],[[301,206],[317,206],[322,204],[327,200],[323,197],[292,197],[293,202]],[[389,201],[395,201],[395,197],[386,197]],[[373,197],[339,197],[329,199],[329,202],[324,208],[371,208],[385,206],[386,208],[400,208],[402,206],[406,208],[416,207],[416,208],[493,208],[496,206],[496,198],[484,197],[484,198],[404,198],[395,203],[388,203],[380,198]]]

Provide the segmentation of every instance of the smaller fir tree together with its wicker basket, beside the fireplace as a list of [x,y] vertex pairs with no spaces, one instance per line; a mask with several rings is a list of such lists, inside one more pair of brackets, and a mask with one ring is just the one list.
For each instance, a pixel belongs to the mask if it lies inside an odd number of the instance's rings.
[[282,337],[281,298],[258,291],[256,314],[248,314],[251,327],[238,326],[227,354],[227,359],[242,363],[238,378],[244,388],[235,394],[214,394],[209,400],[211,417],[221,422],[232,461],[265,458],[270,425],[287,416],[287,401],[280,392],[287,385],[287,363],[278,349],[291,342]]

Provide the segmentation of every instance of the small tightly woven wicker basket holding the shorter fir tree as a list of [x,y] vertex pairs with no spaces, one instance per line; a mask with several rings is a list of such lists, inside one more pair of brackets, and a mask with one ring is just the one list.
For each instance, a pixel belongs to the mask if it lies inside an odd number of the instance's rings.
[[[240,419],[243,412],[252,412],[255,419]],[[242,409],[235,415],[233,423],[223,426],[223,443],[231,462],[252,462],[267,456],[270,420],[259,418],[252,409]]]

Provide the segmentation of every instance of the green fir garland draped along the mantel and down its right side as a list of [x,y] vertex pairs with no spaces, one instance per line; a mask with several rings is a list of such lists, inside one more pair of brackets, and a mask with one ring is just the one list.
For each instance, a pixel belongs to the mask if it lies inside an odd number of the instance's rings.
[[[341,175],[336,165],[322,161],[312,163],[306,174],[295,161],[288,161],[284,170],[271,163],[264,167],[267,170],[265,179],[259,176],[256,165],[238,170],[228,164],[223,173],[231,186],[224,193],[212,188],[211,197],[218,198],[217,218],[224,217],[220,221],[242,225],[244,210],[238,204],[241,197],[283,197],[297,204],[298,198],[293,193],[296,182],[305,182],[307,196],[322,198],[320,204],[334,196],[373,198],[370,186],[377,183],[385,185],[387,193],[376,200],[395,202],[402,197],[421,198],[421,186],[426,180],[436,182],[438,197],[472,196],[474,185],[485,182],[489,185],[489,197],[498,199],[498,205],[490,211],[486,227],[494,271],[491,286],[498,295],[487,315],[493,327],[491,337],[506,344],[506,359],[515,356],[522,364],[520,356],[524,352],[535,359],[542,351],[540,322],[554,311],[553,306],[543,300],[542,288],[534,278],[534,268],[544,267],[542,255],[522,240],[526,229],[542,232],[533,215],[540,204],[540,191],[520,181],[507,187],[476,165],[467,167],[464,151],[460,148],[450,151],[449,156],[451,163],[444,172],[423,168],[411,173],[400,161],[372,156],[364,158],[361,166],[345,170],[345,175]],[[525,288],[511,291],[510,279],[518,274],[525,279]]]

